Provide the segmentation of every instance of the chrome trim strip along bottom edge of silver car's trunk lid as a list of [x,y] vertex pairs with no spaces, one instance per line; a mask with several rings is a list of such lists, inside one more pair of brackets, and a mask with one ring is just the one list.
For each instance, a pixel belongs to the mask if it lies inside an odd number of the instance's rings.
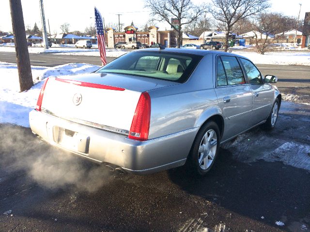
[[106,125],[101,125],[101,124],[98,124],[98,123],[89,122],[89,121],[85,121],[85,120],[78,119],[78,118],[59,117],[59,116],[53,114],[51,111],[49,111],[47,109],[44,109],[44,108],[41,108],[41,111],[46,113],[46,114],[49,114],[49,115],[52,115],[52,116],[64,119],[66,121],[75,122],[75,123],[83,124],[83,125],[86,125],[86,126],[89,126],[89,127],[94,127],[94,128],[102,129],[102,130],[105,130],[105,131],[111,131],[111,132],[120,133],[120,134],[124,134],[124,135],[128,135],[129,134],[129,131],[127,131],[127,130],[123,130],[123,129],[119,129],[119,128],[115,128],[115,127],[109,127],[109,126],[106,126]]

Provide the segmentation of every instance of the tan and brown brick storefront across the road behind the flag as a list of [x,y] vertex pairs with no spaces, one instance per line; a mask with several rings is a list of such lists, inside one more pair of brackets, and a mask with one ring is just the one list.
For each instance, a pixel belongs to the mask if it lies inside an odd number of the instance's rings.
[[175,33],[171,30],[159,31],[156,26],[151,26],[148,31],[138,31],[134,25],[124,28],[122,32],[115,32],[114,28],[107,29],[108,47],[113,48],[115,43],[138,41],[151,45],[151,43],[160,43],[166,47],[175,46]]

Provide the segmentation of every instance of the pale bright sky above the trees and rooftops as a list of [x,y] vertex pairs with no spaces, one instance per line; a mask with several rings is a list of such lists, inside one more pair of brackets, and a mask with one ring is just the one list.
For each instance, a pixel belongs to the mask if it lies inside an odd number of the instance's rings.
[[[204,2],[208,2],[206,0]],[[21,0],[25,25],[33,28],[36,22],[41,28],[40,7],[38,0]],[[105,23],[118,23],[118,16],[122,14],[121,23],[130,25],[131,21],[137,27],[144,25],[149,19],[149,10],[144,8],[143,0],[43,0],[46,20],[49,19],[51,33],[61,33],[60,25],[64,22],[70,24],[70,30],[84,31],[89,25],[93,25],[93,7],[96,6],[105,18]],[[193,0],[195,4],[202,3],[201,0]],[[310,12],[310,0],[270,0],[272,7],[270,12],[282,12],[287,15],[297,16],[299,3],[302,4],[300,18],[305,17],[305,12]],[[160,29],[169,29],[168,24],[157,23]],[[11,31],[11,15],[8,0],[0,3],[0,30]],[[48,25],[47,25],[48,30]]]

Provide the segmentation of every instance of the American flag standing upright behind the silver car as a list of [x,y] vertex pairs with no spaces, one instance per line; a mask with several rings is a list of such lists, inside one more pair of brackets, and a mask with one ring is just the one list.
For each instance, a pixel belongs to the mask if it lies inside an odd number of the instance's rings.
[[100,58],[102,61],[102,65],[107,64],[106,58],[106,40],[105,40],[105,33],[103,29],[103,21],[100,12],[95,7],[95,25],[97,30],[97,41],[98,41],[98,48],[100,52]]

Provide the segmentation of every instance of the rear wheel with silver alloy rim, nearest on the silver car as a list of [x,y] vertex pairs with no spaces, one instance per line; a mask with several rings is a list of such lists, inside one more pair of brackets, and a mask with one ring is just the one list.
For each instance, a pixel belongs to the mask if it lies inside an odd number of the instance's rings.
[[197,133],[188,155],[188,166],[198,176],[207,174],[217,158],[220,132],[217,123],[207,122]]

